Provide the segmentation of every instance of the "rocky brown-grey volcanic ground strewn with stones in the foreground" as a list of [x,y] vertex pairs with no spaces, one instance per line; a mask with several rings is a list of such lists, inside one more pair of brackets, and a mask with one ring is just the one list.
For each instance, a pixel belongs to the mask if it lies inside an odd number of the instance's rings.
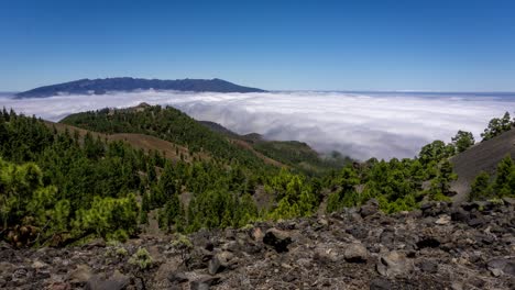
[[3,289],[515,289],[515,200],[80,247],[0,245]]

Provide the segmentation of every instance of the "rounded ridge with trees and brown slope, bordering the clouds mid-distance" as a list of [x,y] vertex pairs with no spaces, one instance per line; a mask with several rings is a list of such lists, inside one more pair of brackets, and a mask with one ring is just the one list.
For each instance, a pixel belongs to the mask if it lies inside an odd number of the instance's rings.
[[[191,154],[204,153],[253,168],[263,165],[288,166],[306,174],[322,174],[350,161],[339,155],[322,158],[300,142],[266,141],[256,134],[239,135],[220,124],[196,121],[174,108],[140,104],[123,110],[105,109],[72,114],[61,121],[92,132],[143,134],[187,147]],[[147,138],[147,137],[146,137]],[[336,156],[336,157],[335,157]]]

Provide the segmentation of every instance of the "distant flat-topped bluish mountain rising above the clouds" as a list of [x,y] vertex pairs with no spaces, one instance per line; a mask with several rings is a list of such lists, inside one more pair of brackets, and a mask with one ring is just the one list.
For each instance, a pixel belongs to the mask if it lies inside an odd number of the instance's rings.
[[211,92],[264,92],[262,89],[239,86],[222,79],[140,79],[106,78],[75,81],[35,88],[17,94],[18,98],[44,98],[57,94],[103,94],[108,91],[177,90]]

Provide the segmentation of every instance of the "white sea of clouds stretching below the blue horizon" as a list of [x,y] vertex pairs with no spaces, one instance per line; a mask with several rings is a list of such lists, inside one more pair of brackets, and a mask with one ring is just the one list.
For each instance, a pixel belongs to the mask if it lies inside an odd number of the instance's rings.
[[87,110],[141,102],[168,104],[197,120],[217,122],[239,134],[297,140],[319,152],[339,150],[358,159],[415,156],[434,140],[450,142],[458,130],[476,141],[490,119],[513,113],[514,96],[409,92],[281,91],[266,93],[113,92],[14,99],[0,107],[51,121]]

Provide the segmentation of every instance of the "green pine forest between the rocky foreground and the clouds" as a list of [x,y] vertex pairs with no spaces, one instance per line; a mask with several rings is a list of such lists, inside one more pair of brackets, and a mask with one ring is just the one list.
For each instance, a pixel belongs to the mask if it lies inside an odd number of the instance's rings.
[[[173,108],[106,109],[70,115],[65,123],[102,133],[154,135],[212,158],[174,161],[156,150],[89,132],[59,131],[3,109],[1,239],[18,246],[66,245],[92,237],[123,241],[138,235],[152,210],[158,212],[164,231],[241,227],[314,214],[326,194],[328,212],[371,198],[388,213],[412,210],[424,200],[449,199],[456,175],[448,158],[474,143],[472,134],[460,131],[452,143],[435,141],[415,158],[372,158],[315,177],[265,165]],[[513,192],[513,161],[505,163],[493,183],[489,177],[484,186],[483,177],[473,192]],[[260,204],[260,196],[270,202]]]

